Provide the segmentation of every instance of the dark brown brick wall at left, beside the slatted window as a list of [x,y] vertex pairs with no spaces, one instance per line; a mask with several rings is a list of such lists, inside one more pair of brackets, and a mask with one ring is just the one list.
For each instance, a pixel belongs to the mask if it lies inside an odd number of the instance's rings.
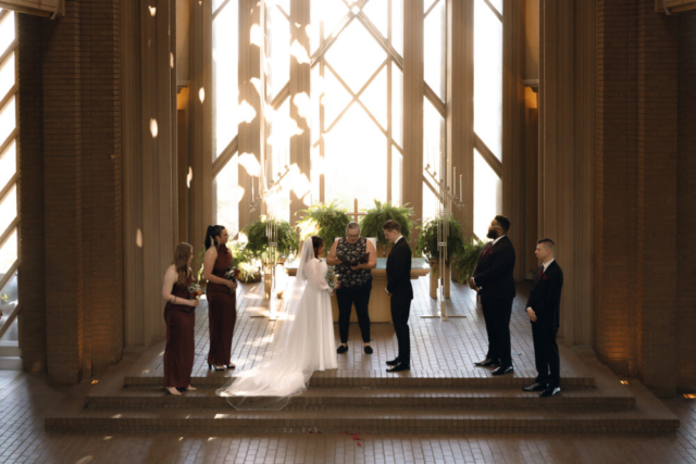
[[[36,321],[21,323],[21,347],[25,367],[46,359],[57,384],[99,375],[123,350],[121,3],[65,9],[20,22],[21,37],[42,38],[38,50],[22,42],[20,62],[20,156],[36,161],[22,172],[22,239],[37,244],[23,253],[20,288],[33,293],[22,322]],[[45,286],[32,278],[41,269]]]

